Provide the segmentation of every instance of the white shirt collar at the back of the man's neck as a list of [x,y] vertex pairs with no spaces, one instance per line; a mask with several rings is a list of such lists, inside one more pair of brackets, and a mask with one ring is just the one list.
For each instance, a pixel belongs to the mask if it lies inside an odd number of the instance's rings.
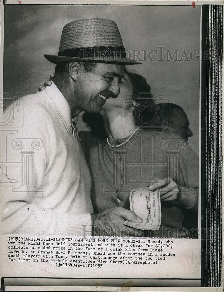
[[57,88],[53,81],[51,82],[51,86],[46,87],[46,93],[49,95],[50,99],[54,103],[54,106],[59,116],[61,117],[67,131],[69,132],[70,126],[72,124],[70,107],[61,91]]

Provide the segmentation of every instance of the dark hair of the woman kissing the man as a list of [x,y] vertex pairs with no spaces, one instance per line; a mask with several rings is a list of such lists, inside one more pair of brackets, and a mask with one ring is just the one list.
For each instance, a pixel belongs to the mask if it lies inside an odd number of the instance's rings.
[[[137,72],[127,71],[125,68],[124,73],[128,75],[130,83],[133,86],[132,94],[137,104],[133,110],[135,125],[148,129],[152,121],[154,121],[157,111],[157,107],[154,103],[154,96],[150,92],[150,85],[147,83],[145,77],[137,74]],[[100,138],[108,138],[104,128],[103,116],[101,114],[84,113],[82,115],[82,120],[90,128],[92,135]]]

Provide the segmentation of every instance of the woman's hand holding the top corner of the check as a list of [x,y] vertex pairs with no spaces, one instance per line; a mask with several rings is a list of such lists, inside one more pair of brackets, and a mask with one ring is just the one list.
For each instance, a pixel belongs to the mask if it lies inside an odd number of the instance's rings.
[[[155,180],[158,180],[158,182],[155,182]],[[161,188],[160,191],[160,200],[161,201],[178,201],[180,197],[180,191],[178,188],[177,183],[172,180],[172,178],[164,178],[161,179],[154,179],[149,183],[149,190],[156,190],[158,188]]]

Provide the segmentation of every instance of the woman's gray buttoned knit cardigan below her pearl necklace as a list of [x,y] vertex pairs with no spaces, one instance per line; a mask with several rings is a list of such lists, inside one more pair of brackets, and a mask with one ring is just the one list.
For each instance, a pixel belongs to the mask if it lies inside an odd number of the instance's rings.
[[[171,177],[195,199],[189,208],[161,201],[161,226],[171,233],[178,228],[180,237],[185,232],[185,214],[191,212],[197,217],[199,159],[183,139],[172,133],[139,129],[127,144],[111,148],[90,132],[80,132],[80,137],[93,179],[91,196],[96,212],[114,206],[130,208],[131,189],[147,187],[155,178]],[[117,140],[117,145],[125,140]],[[162,237],[171,235],[165,230]]]

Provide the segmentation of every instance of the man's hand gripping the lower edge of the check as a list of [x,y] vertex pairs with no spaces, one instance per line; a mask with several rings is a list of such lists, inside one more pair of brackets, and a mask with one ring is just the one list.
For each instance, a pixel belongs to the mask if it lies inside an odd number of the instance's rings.
[[125,220],[142,222],[134,212],[122,207],[107,209],[102,213],[91,214],[92,234],[101,236],[143,236],[143,232],[124,225]]

